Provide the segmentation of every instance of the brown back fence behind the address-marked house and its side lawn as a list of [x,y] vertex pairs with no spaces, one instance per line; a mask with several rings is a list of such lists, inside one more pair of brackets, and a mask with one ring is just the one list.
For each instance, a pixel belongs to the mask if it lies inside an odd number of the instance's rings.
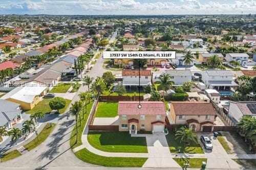
[[142,101],[143,96],[100,95],[99,101]]

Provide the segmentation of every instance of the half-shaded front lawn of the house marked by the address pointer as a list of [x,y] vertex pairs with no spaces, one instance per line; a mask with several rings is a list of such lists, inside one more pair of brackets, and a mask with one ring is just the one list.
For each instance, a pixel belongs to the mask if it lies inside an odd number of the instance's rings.
[[145,137],[131,137],[129,132],[89,132],[89,143],[105,152],[147,153]]

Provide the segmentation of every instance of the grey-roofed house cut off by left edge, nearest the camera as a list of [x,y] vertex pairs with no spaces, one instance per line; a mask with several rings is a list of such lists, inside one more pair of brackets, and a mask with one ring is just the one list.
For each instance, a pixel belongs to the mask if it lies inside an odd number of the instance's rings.
[[22,111],[19,104],[0,99],[0,126],[8,130],[22,119]]

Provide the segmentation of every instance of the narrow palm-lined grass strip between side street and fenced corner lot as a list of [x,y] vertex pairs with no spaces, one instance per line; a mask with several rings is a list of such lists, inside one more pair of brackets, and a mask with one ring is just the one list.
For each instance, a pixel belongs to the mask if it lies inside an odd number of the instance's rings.
[[[74,148],[76,148],[76,147],[78,147],[79,145],[82,144],[81,137],[82,137],[83,128],[86,125],[86,121],[88,119],[88,116],[90,114],[92,106],[93,106],[93,101],[91,101],[91,103],[87,104],[87,109],[86,109],[86,107],[84,107],[84,118],[81,119],[81,126],[78,122],[78,142],[76,144],[75,144],[75,141],[76,141],[76,127],[74,126],[74,130],[72,131],[71,138],[70,138],[70,146],[71,146],[72,149],[74,149]],[[81,118],[82,118],[82,112],[80,113],[80,115],[81,115]]]

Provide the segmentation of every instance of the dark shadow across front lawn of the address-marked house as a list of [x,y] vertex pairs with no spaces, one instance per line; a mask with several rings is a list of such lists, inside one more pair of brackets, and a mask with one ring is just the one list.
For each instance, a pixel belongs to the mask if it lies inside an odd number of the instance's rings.
[[89,132],[89,135],[100,135],[101,145],[140,145],[147,146],[145,137],[131,137],[129,132]]

